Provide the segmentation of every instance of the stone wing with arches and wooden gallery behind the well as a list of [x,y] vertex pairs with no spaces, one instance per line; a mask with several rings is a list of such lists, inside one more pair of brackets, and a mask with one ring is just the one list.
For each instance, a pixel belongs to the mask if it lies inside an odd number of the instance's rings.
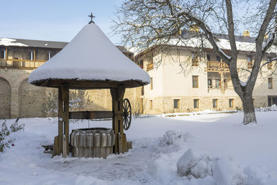
[[[0,118],[28,118],[48,116],[45,103],[49,94],[57,89],[35,87],[28,84],[29,74],[52,58],[67,42],[49,42],[30,39],[0,39]],[[127,57],[133,53],[118,46]],[[78,55],[78,53],[76,53]],[[78,61],[76,61],[78,62]],[[134,102],[140,89],[129,89],[125,96]],[[91,110],[111,109],[109,91],[89,90],[93,107]]]

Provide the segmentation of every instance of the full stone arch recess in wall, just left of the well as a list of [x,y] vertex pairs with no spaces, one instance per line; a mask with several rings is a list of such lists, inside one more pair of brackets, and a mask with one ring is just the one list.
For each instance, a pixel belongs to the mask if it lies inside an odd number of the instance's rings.
[[44,87],[28,84],[28,78],[21,80],[19,85],[19,117],[44,117],[43,105],[45,95],[46,91]]

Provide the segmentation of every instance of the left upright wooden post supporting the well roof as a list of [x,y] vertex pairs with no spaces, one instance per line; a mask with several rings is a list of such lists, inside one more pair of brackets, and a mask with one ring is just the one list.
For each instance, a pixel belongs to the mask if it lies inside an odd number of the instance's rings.
[[[66,154],[69,155],[69,86],[62,85],[59,88],[59,102],[58,102],[58,136],[59,136],[59,144],[58,144],[58,152],[57,155],[62,153],[62,148],[66,148]],[[62,137],[65,134],[66,136],[66,146],[62,144]]]

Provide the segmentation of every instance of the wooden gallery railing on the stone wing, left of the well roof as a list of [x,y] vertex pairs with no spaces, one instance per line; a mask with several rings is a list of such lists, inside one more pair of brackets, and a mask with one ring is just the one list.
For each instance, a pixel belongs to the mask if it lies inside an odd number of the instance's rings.
[[36,69],[46,60],[0,59],[0,68]]

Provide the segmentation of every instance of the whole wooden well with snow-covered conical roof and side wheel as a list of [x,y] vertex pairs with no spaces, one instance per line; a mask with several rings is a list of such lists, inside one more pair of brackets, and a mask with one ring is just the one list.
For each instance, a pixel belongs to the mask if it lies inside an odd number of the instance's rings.
[[[66,157],[72,149],[73,157],[107,157],[110,153],[127,152],[123,130],[129,128],[132,115],[129,100],[123,100],[125,89],[148,85],[150,76],[91,21],[62,51],[30,73],[28,82],[58,89],[58,134],[53,156]],[[69,89],[110,89],[112,110],[69,112]],[[112,118],[111,131],[73,130],[70,137],[71,118]]]

